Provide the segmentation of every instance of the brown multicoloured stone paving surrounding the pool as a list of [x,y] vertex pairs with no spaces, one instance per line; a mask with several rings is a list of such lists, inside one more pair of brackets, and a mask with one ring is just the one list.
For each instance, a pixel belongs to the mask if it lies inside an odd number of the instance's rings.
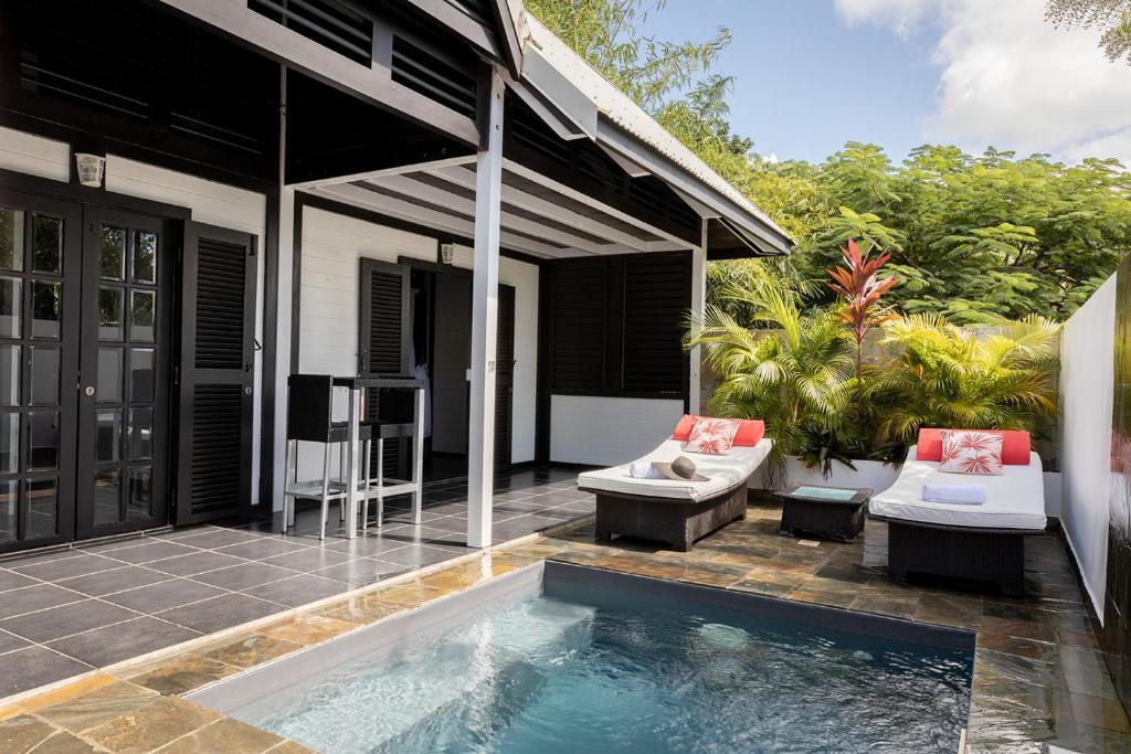
[[[192,704],[182,695],[262,662],[331,641],[515,569],[553,558],[782,599],[977,632],[967,746],[970,752],[1131,752],[1064,547],[1030,539],[1029,595],[1007,598],[886,577],[886,528],[869,522],[853,544],[777,534],[780,510],[751,506],[690,553],[644,543],[596,543],[592,526],[434,565],[214,642],[124,662],[0,707],[3,752],[303,752],[294,742]],[[0,702],[2,704],[2,702]]]

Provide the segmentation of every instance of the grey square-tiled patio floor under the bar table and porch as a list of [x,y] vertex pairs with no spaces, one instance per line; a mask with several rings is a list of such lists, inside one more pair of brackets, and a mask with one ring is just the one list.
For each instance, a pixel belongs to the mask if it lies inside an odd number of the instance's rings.
[[[563,469],[501,479],[497,541],[592,512],[575,479]],[[407,501],[390,501],[382,529],[353,540],[331,510],[320,543],[308,509],[286,537],[265,520],[0,561],[0,697],[466,556],[465,489],[430,486],[421,526]]]

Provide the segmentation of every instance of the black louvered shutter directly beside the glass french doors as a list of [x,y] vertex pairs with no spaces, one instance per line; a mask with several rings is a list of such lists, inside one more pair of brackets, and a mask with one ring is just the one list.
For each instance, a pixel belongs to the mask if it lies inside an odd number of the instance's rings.
[[178,525],[251,506],[256,239],[187,223],[182,265]]

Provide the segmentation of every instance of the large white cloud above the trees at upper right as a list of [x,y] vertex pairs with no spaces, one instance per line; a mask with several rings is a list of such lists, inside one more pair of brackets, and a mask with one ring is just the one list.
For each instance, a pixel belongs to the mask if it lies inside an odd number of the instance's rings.
[[1057,29],[1042,0],[836,0],[849,23],[907,34],[930,14],[942,29],[929,141],[987,145],[1057,158],[1117,157],[1131,165],[1131,69],[1107,61],[1095,29]]

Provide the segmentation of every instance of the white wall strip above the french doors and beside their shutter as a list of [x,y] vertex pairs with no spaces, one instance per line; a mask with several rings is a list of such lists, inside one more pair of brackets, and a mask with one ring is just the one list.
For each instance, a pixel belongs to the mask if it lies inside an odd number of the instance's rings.
[[[206,181],[178,171],[155,167],[118,155],[106,155],[105,187],[107,191],[140,199],[152,199],[191,210],[192,219],[219,227],[251,233],[256,236],[259,268],[256,283],[256,339],[264,341],[264,239],[266,237],[267,197],[262,193]],[[259,501],[259,457],[262,452],[260,427],[262,410],[262,352],[254,354],[254,401],[251,444],[251,500]]]

